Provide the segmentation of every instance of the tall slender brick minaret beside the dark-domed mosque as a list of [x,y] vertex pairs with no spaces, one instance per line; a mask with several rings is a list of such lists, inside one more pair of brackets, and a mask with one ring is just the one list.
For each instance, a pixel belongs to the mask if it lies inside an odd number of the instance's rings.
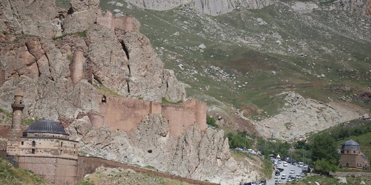
[[9,132],[8,143],[6,147],[7,155],[18,155],[20,139],[22,136],[22,117],[23,117],[23,93],[20,89],[14,94],[14,102],[12,104],[12,128]]

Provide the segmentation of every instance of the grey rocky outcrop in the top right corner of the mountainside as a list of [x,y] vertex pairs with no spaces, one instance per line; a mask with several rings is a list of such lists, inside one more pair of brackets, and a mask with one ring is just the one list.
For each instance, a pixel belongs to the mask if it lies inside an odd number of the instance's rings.
[[371,17],[371,0],[337,0],[329,6],[329,10],[348,10]]

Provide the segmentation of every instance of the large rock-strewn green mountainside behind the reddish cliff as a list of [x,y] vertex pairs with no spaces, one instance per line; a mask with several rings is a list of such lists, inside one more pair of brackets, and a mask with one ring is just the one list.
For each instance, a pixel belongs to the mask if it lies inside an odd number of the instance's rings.
[[[189,5],[154,11],[108,1],[100,1],[103,10],[119,9],[141,23],[140,32],[151,40],[165,68],[191,85],[188,97],[210,105],[216,98],[246,110],[245,116],[254,120],[281,111],[282,98],[269,97],[282,91],[325,103],[371,106],[365,94],[371,80],[371,20],[359,14],[320,9],[302,13],[285,1],[288,4],[210,16]],[[68,0],[57,0],[56,5],[69,7]],[[267,24],[260,25],[257,18]]]

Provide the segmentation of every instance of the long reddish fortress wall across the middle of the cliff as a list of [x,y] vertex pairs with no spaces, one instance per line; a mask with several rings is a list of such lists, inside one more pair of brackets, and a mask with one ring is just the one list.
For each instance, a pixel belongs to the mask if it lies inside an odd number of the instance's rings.
[[[102,95],[98,95],[98,99],[101,101]],[[155,101],[107,96],[104,102],[99,103],[99,112],[111,131],[130,131],[148,114],[162,114],[167,118],[170,134],[174,138],[178,138],[195,122],[200,130],[205,131],[207,128],[206,103],[194,99],[183,102],[183,105],[160,105]],[[103,126],[100,121],[102,117],[94,115],[89,116],[89,119],[93,126]]]

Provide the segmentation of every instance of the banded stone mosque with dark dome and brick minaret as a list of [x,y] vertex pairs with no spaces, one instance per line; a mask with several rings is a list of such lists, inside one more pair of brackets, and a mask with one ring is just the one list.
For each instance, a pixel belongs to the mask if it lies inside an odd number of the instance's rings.
[[22,132],[23,94],[14,95],[12,127],[6,159],[14,166],[33,171],[52,184],[75,184],[78,177],[78,141],[52,120],[40,120]]

